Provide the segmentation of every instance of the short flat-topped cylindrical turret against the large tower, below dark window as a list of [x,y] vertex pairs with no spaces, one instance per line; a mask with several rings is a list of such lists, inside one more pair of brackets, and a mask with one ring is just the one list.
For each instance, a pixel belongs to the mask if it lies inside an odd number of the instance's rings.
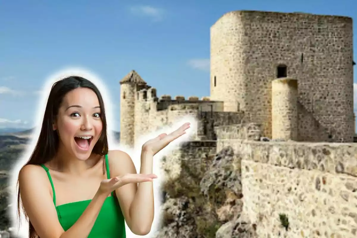
[[272,138],[297,140],[298,89],[296,79],[272,81]]

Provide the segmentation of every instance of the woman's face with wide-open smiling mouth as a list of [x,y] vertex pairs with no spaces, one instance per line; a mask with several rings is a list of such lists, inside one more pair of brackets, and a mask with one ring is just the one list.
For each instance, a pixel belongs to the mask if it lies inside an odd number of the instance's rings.
[[85,160],[92,153],[102,132],[97,95],[89,88],[76,88],[63,98],[54,130],[60,137],[60,148]]

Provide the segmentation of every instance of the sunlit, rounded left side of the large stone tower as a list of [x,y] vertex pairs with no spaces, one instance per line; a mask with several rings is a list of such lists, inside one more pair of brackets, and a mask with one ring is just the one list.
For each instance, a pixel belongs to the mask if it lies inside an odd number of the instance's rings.
[[224,102],[224,111],[246,109],[243,26],[240,14],[229,12],[210,29],[210,96]]

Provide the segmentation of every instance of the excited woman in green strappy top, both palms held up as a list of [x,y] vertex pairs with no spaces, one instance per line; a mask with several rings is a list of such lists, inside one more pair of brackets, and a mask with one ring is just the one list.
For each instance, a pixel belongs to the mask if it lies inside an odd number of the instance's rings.
[[144,143],[137,174],[129,155],[108,149],[97,87],[77,76],[54,83],[37,144],[18,178],[18,213],[22,203],[29,237],[124,238],[124,221],[133,233],[148,234],[153,156],[189,127],[185,123]]

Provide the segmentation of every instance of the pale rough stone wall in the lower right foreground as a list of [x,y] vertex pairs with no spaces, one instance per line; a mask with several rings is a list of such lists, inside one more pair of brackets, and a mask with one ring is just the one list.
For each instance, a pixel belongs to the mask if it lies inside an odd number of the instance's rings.
[[242,157],[243,213],[259,237],[357,236],[356,145],[232,143]]

